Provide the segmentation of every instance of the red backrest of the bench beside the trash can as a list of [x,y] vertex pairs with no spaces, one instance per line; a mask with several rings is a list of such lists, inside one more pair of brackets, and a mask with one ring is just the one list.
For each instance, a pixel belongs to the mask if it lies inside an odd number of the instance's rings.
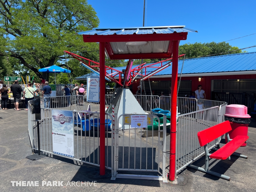
[[221,135],[224,135],[225,133],[231,130],[232,129],[229,121],[224,121],[218,125],[214,125],[212,127],[209,127],[208,129],[199,131],[197,133],[197,136],[200,146],[202,147],[207,143],[210,143],[211,141],[215,140],[216,138],[220,137]]

